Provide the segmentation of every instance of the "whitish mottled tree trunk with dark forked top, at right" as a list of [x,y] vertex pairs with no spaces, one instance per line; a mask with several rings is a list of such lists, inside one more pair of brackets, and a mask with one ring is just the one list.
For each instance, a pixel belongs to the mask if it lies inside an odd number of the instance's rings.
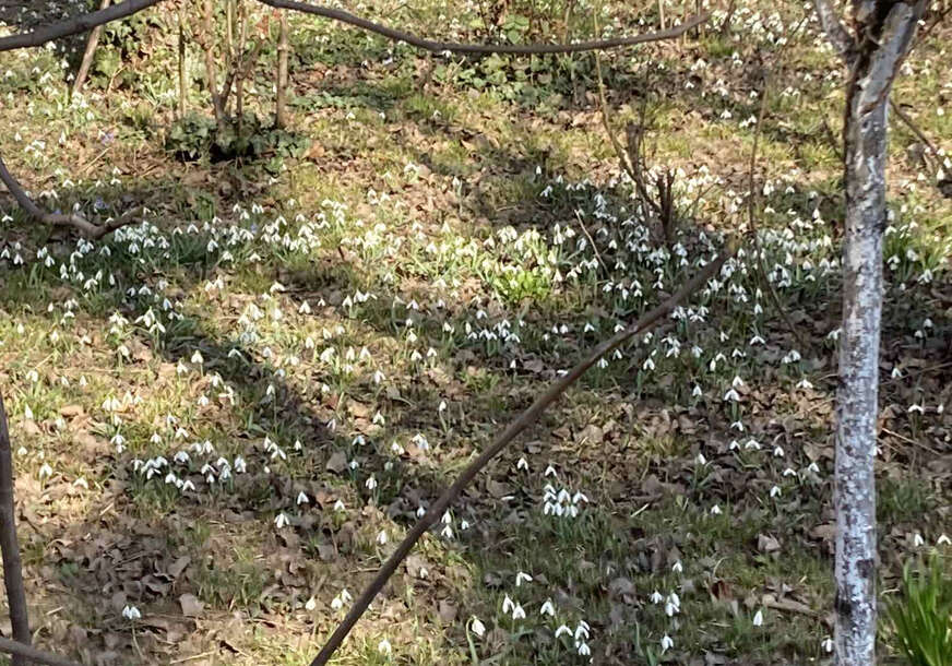
[[836,399],[836,663],[876,654],[876,430],[882,319],[889,95],[928,0],[854,1],[850,35],[826,0],[817,13],[849,66],[844,121],[846,224]]

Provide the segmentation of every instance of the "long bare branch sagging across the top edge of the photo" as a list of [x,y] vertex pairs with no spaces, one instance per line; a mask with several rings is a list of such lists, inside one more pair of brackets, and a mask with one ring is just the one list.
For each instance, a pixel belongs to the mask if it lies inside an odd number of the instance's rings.
[[457,44],[454,41],[433,41],[404,33],[402,31],[355,16],[349,12],[340,9],[331,9],[326,7],[318,7],[308,4],[307,2],[298,2],[297,0],[259,0],[263,4],[277,9],[289,9],[316,16],[323,16],[332,21],[338,21],[359,27],[367,32],[381,35],[394,41],[405,41],[410,46],[421,48],[435,53],[450,51],[453,53],[523,53],[523,55],[539,55],[539,53],[578,53],[582,51],[604,50],[618,48],[621,46],[634,46],[636,44],[645,44],[647,41],[661,41],[663,39],[671,39],[687,33],[692,27],[701,25],[711,17],[711,12],[704,12],[698,16],[686,21],[681,25],[670,29],[661,31],[657,33],[647,33],[644,35],[634,35],[631,37],[618,37],[615,39],[597,39],[594,41],[580,41],[579,44],[526,44],[526,45],[510,45],[510,44]]

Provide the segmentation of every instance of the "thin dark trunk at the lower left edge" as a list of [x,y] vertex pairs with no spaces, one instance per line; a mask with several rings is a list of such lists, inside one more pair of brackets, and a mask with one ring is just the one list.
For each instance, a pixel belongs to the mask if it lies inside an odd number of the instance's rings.
[[[26,611],[26,593],[23,591],[23,569],[20,563],[20,544],[16,540],[16,520],[13,507],[13,456],[10,452],[10,432],[7,429],[7,411],[0,395],[0,549],[3,556],[3,581],[7,584],[7,603],[10,606],[10,622],[13,638],[29,645],[29,619]],[[25,666],[26,657],[13,655],[13,666]]]

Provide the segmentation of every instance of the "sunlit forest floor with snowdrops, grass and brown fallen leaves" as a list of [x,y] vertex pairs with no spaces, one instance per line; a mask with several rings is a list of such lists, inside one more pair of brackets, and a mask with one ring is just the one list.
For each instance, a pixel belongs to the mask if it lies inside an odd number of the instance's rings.
[[[498,5],[440,4],[352,9],[480,41],[659,21],[657,3],[513,2],[486,29]],[[28,5],[0,17],[39,21]],[[738,0],[726,23],[602,55],[612,130],[643,127],[647,166],[674,174],[670,237],[620,168],[591,55],[431,57],[295,15],[274,132],[276,21],[254,10],[257,154],[236,158],[211,145],[195,44],[177,119],[168,7],[110,26],[73,98],[82,39],[0,53],[0,154],[25,187],[49,209],[152,211],[90,243],[0,204],[0,388],[36,644],[88,664],[306,664],[419,508],[747,228],[766,79],[766,275],[746,248],[593,368],[424,537],[333,663],[830,662],[844,71],[804,3]],[[950,28],[894,93],[947,150]],[[952,165],[895,115],[890,154],[884,602],[952,536]],[[885,622],[881,643],[888,661]]]

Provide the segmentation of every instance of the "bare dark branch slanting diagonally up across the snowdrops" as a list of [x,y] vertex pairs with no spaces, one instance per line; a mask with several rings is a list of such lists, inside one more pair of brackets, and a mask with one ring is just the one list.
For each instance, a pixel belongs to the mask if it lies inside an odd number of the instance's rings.
[[609,340],[603,342],[600,345],[595,347],[588,356],[586,356],[579,365],[572,368],[563,377],[559,378],[555,382],[552,382],[549,388],[543,393],[540,396],[536,399],[536,401],[528,407],[525,412],[523,412],[515,420],[509,424],[509,426],[503,430],[499,437],[485,450],[480,453],[472,463],[469,463],[465,469],[460,474],[453,485],[447,488],[443,495],[433,502],[433,504],[429,508],[429,510],[424,514],[424,516],[417,521],[417,523],[413,526],[413,528],[407,532],[406,537],[404,537],[403,542],[401,542],[400,546],[396,547],[396,550],[393,551],[393,555],[383,563],[374,576],[373,581],[367,586],[366,590],[360,594],[359,597],[354,602],[354,606],[352,606],[350,610],[347,613],[346,617],[341,621],[337,628],[334,630],[334,633],[331,634],[331,638],[328,639],[328,642],[324,644],[324,647],[318,653],[318,656],[314,657],[314,661],[311,662],[310,666],[325,666],[328,661],[334,654],[334,652],[341,646],[344,642],[344,639],[347,638],[347,634],[354,628],[354,625],[357,623],[357,620],[360,619],[360,616],[367,610],[367,607],[370,606],[370,603],[373,598],[383,590],[383,586],[386,584],[386,581],[390,580],[390,576],[394,574],[396,568],[400,563],[409,555],[409,551],[416,545],[416,543],[420,539],[420,537],[426,533],[427,530],[430,528],[443,514],[447,508],[452,504],[456,498],[460,497],[460,493],[463,491],[466,486],[476,477],[477,474],[486,466],[486,464],[496,457],[500,451],[502,451],[515,437],[525,430],[528,426],[534,424],[536,419],[542,415],[546,408],[551,405],[558,397],[566,392],[566,390],[575,383],[582,374],[585,373],[588,368],[594,366],[599,358],[609,354],[627,340],[632,336],[644,333],[653,329],[662,318],[666,317],[668,313],[674,310],[678,304],[680,304],[688,296],[693,294],[699,287],[707,282],[717,271],[721,270],[721,266],[724,265],[724,262],[727,261],[727,258],[733,255],[736,251],[737,245],[734,239],[730,239],[728,242],[727,249],[721,253],[714,261],[706,264],[703,269],[701,269],[697,275],[694,275],[691,280],[686,282],[680,289],[678,289],[675,294],[673,294],[663,304],[654,308],[653,310],[646,312],[642,316],[638,321],[630,323],[628,326],[616,333]]

